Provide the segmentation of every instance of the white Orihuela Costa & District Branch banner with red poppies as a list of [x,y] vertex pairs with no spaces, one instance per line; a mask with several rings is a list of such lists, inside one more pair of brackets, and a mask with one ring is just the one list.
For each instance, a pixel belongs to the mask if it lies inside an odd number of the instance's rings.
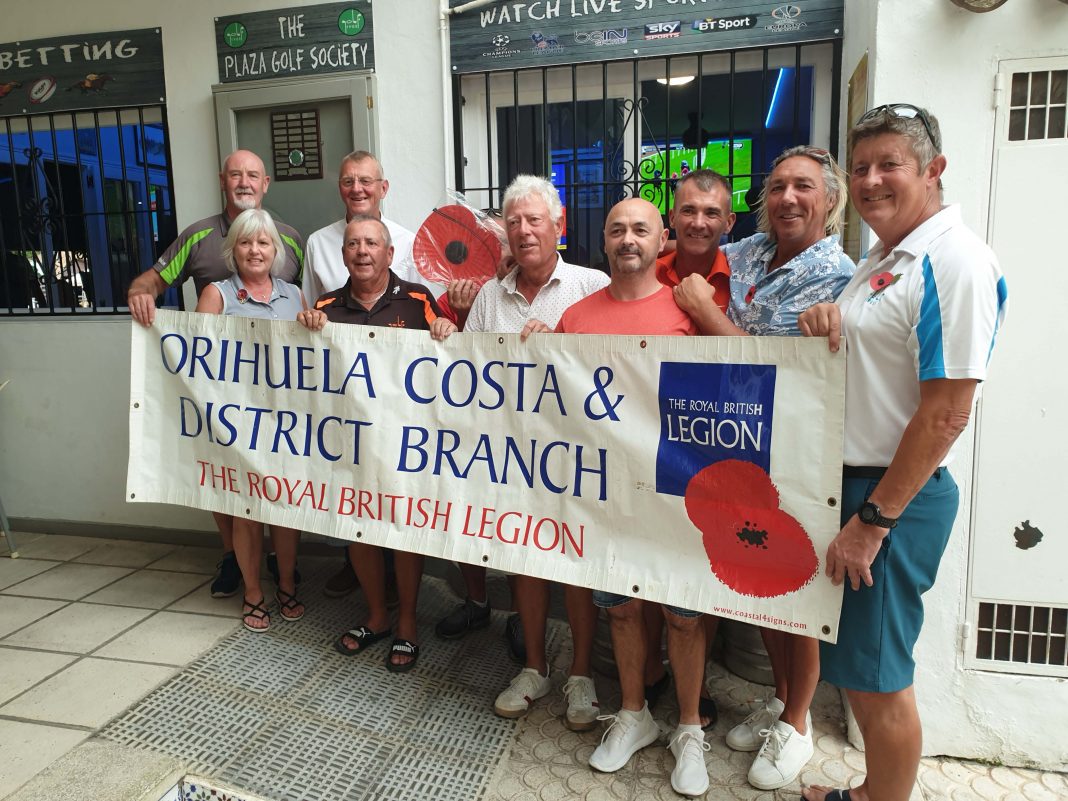
[[845,359],[823,340],[131,324],[127,499],[834,641]]

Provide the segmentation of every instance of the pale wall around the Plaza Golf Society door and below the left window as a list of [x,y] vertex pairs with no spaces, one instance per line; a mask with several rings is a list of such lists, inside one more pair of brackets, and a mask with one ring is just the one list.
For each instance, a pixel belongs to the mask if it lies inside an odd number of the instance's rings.
[[[302,4],[314,3],[6,3],[0,40],[162,29],[174,189],[184,227],[220,207],[211,105],[211,85],[219,79],[215,16]],[[437,0],[376,2],[374,26],[378,155],[391,184],[387,210],[414,230],[444,191],[446,122]],[[9,517],[211,528],[206,513],[124,501],[129,326],[128,317],[0,318],[0,382],[12,379],[0,393],[0,496]]]

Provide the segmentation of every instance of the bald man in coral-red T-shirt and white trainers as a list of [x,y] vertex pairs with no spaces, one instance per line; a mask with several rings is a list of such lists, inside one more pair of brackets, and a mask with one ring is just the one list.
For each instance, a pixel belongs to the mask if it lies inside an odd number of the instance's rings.
[[[604,251],[612,282],[564,312],[556,331],[600,335],[695,333],[693,320],[675,304],[671,288],[657,279],[657,253],[665,241],[668,232],[659,209],[651,203],[631,198],[613,206],[604,221]],[[656,741],[660,729],[645,702],[643,601],[595,591],[594,603],[608,611],[623,698],[600,745],[591,754],[590,765],[612,773]],[[671,785],[680,795],[702,796],[708,789],[705,739],[697,711],[705,669],[705,629],[700,612],[666,604],[663,610],[679,709],[678,728],[669,747],[675,755]]]

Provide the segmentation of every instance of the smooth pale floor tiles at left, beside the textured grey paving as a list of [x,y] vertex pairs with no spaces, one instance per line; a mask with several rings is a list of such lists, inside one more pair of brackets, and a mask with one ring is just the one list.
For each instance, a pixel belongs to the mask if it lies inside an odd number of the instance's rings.
[[0,546],[0,798],[240,625],[239,598],[203,588],[211,549],[33,534],[18,546],[16,560]]

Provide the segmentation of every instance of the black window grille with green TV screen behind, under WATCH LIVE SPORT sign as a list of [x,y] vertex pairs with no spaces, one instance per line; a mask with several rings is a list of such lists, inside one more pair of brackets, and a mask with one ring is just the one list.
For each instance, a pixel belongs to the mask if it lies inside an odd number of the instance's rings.
[[551,177],[563,256],[607,269],[608,209],[642,197],[666,220],[678,177],[709,167],[734,185],[740,239],[775,156],[837,152],[841,61],[835,41],[457,75],[456,185],[496,208],[517,174]]

